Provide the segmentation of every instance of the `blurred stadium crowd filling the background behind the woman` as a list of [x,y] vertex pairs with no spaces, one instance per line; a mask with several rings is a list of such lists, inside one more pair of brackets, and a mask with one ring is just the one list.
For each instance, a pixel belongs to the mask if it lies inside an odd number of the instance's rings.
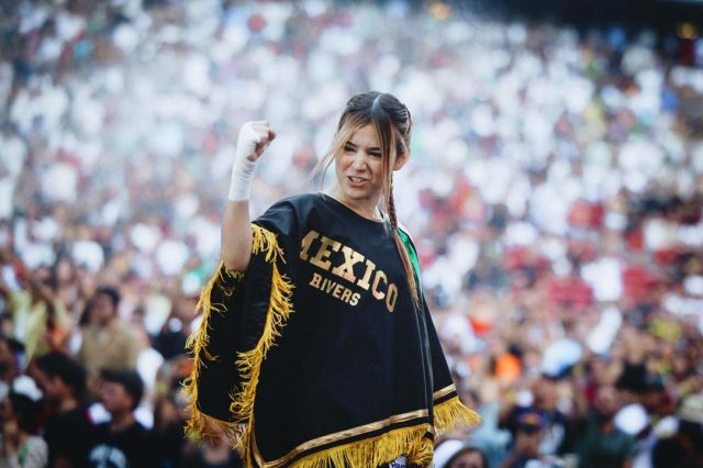
[[442,2],[2,9],[0,466],[238,466],[183,439],[180,386],[237,129],[278,133],[256,215],[320,190],[368,89],[412,112],[399,218],[483,419],[436,466],[702,466],[703,40]]

